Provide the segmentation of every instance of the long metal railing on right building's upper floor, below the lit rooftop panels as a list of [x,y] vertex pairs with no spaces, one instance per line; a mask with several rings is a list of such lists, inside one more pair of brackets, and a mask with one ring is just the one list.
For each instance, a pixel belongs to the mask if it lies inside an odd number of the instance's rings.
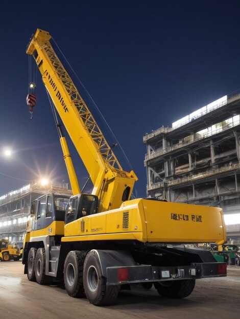
[[149,159],[153,159],[153,158],[161,156],[163,154],[170,153],[170,152],[172,152],[172,151],[174,151],[176,149],[185,147],[186,145],[193,144],[196,141],[209,138],[209,137],[211,137],[213,135],[217,135],[217,134],[219,134],[219,133],[221,133],[221,132],[223,132],[225,130],[228,130],[228,129],[230,129],[232,127],[235,127],[235,126],[238,126],[238,125],[240,125],[240,121],[239,120],[238,121],[234,121],[233,123],[228,123],[227,125],[221,126],[218,129],[208,131],[208,132],[204,133],[203,135],[198,135],[198,136],[195,135],[192,141],[185,141],[185,142],[178,143],[178,144],[175,144],[175,145],[170,146],[170,147],[161,148],[161,149],[158,149],[156,151],[152,151],[149,155],[148,154],[145,155],[145,161],[149,161]]

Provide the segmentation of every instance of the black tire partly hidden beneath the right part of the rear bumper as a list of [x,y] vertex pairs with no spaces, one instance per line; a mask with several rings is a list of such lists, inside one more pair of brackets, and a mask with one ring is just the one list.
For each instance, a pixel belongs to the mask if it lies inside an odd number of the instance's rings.
[[195,279],[167,280],[154,283],[158,294],[167,298],[185,298],[189,296],[195,287]]

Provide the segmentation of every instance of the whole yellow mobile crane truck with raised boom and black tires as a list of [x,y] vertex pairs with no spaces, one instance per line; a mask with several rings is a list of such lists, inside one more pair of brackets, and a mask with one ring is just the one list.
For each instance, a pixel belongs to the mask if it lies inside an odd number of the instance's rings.
[[[195,280],[226,276],[226,263],[186,244],[226,242],[218,207],[130,199],[137,177],[126,172],[58,59],[51,35],[37,29],[27,47],[93,184],[80,192],[66,140],[57,124],[73,196],[40,197],[32,204],[22,263],[30,281],[64,280],[71,297],[111,304],[118,290],[152,285],[159,295],[184,298]],[[64,209],[65,219],[63,218]]]

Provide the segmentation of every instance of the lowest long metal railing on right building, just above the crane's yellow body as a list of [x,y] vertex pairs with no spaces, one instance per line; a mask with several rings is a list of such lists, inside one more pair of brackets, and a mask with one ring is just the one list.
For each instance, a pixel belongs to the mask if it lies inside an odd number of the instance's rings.
[[[234,170],[238,170],[240,169],[240,164],[232,164],[232,165],[228,165],[228,166],[223,166],[221,168],[214,168],[211,170],[208,170],[206,172],[202,172],[196,175],[192,175],[192,176],[186,176],[186,177],[181,177],[181,178],[177,178],[177,179],[173,179],[173,180],[168,180],[165,181],[167,187],[171,187],[174,185],[178,185],[178,184],[183,184],[186,182],[190,182],[190,181],[194,181],[197,179],[203,179],[212,175],[217,175],[217,174],[221,174],[221,173],[225,173],[225,172],[229,172],[229,171],[234,171]],[[163,188],[164,182],[157,182],[154,184],[151,184],[149,186],[147,186],[147,190],[151,191],[151,190],[155,190],[155,189],[159,189],[159,188]]]

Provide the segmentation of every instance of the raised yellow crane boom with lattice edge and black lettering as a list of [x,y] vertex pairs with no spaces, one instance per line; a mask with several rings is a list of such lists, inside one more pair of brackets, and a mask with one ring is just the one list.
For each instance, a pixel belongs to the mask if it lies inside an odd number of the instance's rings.
[[122,203],[126,187],[129,188],[127,199],[130,198],[137,177],[133,171],[124,171],[118,163],[86,103],[55,54],[50,39],[48,32],[37,29],[28,45],[27,54],[33,55],[36,60],[42,81],[89,173],[93,183],[92,194],[101,200],[101,210],[109,209],[110,206],[117,208]]

